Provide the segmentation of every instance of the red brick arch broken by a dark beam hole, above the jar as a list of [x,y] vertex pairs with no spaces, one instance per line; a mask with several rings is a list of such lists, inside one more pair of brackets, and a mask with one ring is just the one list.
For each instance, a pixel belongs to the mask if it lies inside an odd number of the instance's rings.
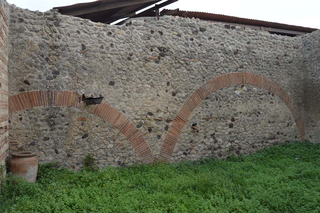
[[70,91],[41,90],[24,92],[9,97],[9,114],[42,106],[73,107],[85,110],[102,119],[106,119],[124,134],[142,163],[152,163],[154,161],[151,149],[143,135],[123,113],[105,102],[86,106],[84,102],[79,103],[81,99],[82,95]]

